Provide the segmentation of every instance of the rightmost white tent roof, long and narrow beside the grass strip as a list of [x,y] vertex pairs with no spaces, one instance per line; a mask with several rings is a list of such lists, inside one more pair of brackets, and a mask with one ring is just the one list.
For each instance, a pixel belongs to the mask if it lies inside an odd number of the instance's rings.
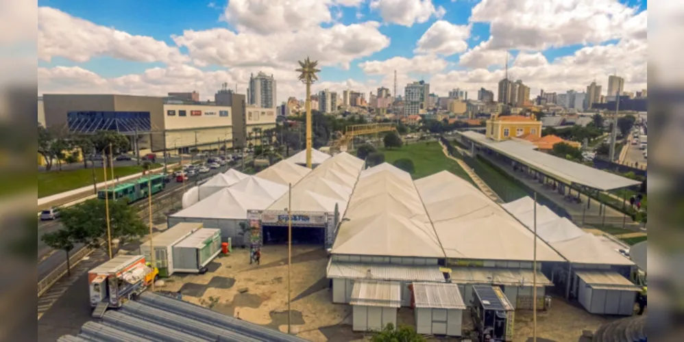
[[[530,231],[534,231],[535,201],[529,197],[509,202],[503,207],[510,211]],[[548,207],[537,203],[537,236],[557,250],[571,263],[601,265],[633,265],[599,237],[585,233],[567,218],[561,218]]]

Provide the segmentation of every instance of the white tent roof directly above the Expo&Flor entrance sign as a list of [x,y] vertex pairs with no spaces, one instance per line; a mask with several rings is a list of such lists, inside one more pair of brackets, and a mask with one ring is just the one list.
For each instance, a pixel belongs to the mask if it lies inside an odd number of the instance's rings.
[[[363,160],[347,153],[326,160],[293,186],[291,210],[332,213],[337,204],[344,213],[363,165]],[[285,194],[267,210],[282,211],[288,201]]]

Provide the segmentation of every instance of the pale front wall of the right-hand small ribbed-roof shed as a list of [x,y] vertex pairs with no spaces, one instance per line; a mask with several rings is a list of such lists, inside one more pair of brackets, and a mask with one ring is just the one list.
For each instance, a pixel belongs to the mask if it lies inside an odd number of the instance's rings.
[[419,334],[461,336],[463,334],[463,310],[416,308],[415,326]]

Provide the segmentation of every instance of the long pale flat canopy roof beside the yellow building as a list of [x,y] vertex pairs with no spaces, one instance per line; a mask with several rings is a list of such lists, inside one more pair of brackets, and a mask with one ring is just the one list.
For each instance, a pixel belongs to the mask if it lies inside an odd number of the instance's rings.
[[456,132],[456,134],[463,135],[565,183],[584,185],[602,191],[641,184],[639,181],[534,150],[520,142],[512,140],[495,142],[487,139],[484,134],[474,131]]

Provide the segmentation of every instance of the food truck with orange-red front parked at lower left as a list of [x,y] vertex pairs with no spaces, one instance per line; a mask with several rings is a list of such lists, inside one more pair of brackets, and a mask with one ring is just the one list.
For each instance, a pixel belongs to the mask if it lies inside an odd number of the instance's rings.
[[93,316],[101,317],[107,308],[119,308],[149,287],[159,270],[143,255],[119,255],[88,272],[90,306]]

